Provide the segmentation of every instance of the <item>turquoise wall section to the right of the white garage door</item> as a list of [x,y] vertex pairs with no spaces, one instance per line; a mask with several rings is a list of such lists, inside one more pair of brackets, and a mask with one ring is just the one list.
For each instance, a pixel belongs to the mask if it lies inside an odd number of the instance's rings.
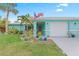
[[69,33],[79,37],[79,21],[69,22]]

